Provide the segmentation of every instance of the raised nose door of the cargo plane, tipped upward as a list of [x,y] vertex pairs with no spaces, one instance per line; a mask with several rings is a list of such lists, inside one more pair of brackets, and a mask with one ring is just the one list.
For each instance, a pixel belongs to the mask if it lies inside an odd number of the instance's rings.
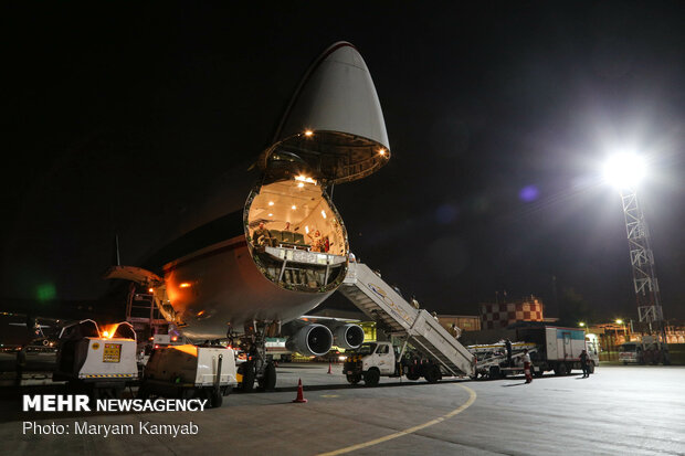
[[257,161],[262,170],[284,161],[277,152],[296,155],[319,179],[333,182],[363,178],[388,161],[390,142],[376,86],[352,44],[335,43],[312,64],[273,146]]

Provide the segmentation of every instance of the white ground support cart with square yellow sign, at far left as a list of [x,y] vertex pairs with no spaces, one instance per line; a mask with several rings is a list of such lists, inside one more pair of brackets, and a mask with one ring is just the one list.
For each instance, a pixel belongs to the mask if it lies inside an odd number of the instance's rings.
[[70,389],[94,399],[120,397],[138,380],[136,332],[130,324],[118,324],[107,337],[93,320],[62,328],[53,380],[66,381]]

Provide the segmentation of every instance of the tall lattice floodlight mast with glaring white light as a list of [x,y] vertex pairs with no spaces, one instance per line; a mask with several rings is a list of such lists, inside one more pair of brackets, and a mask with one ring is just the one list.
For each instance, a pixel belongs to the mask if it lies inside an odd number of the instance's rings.
[[619,153],[608,160],[604,178],[621,194],[640,322],[649,325],[650,332],[654,330],[661,332],[665,341],[664,315],[654,271],[650,230],[636,192],[644,172],[645,163],[639,156]]

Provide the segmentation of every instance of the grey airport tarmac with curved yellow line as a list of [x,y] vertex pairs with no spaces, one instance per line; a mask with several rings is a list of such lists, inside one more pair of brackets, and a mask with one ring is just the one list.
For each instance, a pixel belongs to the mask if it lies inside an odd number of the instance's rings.
[[[601,365],[580,373],[496,381],[381,379],[350,386],[341,365],[282,364],[274,392],[234,393],[204,412],[24,413],[0,389],[0,455],[683,455],[685,367]],[[293,403],[302,379],[307,403]],[[31,381],[27,381],[30,383]],[[24,422],[64,435],[23,433]],[[76,424],[130,424],[133,435],[78,434]],[[193,423],[197,434],[149,435],[140,425]]]

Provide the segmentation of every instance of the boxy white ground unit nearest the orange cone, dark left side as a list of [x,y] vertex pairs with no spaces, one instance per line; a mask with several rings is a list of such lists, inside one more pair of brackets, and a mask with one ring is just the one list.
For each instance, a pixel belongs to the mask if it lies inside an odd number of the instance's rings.
[[235,354],[224,347],[169,346],[152,351],[138,396],[208,399],[221,406],[238,384]]

